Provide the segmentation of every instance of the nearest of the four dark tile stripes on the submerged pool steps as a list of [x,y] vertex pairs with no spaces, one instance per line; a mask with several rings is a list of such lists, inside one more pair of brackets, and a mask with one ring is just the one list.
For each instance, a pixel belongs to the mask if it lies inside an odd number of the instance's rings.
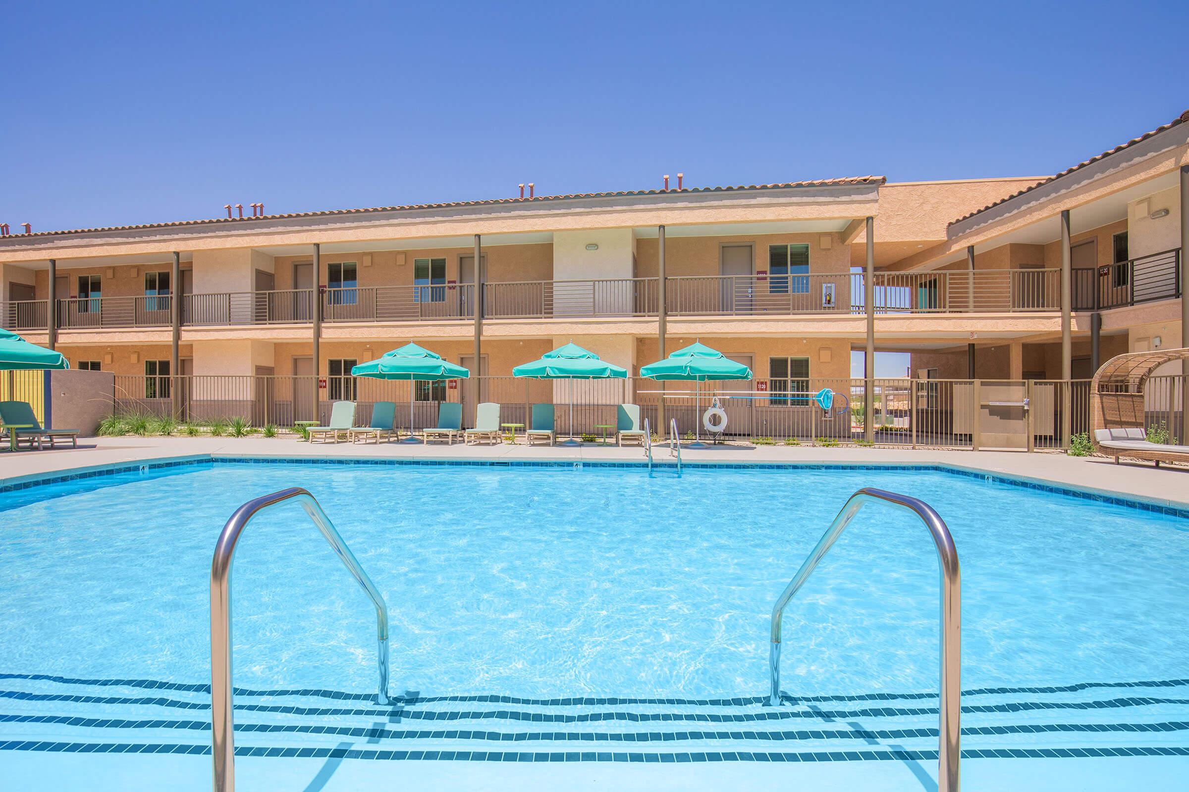
[[[210,753],[207,745],[131,742],[52,742],[8,740],[0,750],[39,750],[95,754],[195,754]],[[578,750],[390,750],[377,748],[276,748],[237,746],[237,756],[270,759],[366,759],[379,761],[505,761],[505,762],[838,762],[838,761],[937,761],[936,750],[814,750],[814,752],[690,752],[615,753]],[[1189,756],[1179,746],[1137,746],[1120,748],[967,748],[963,759],[1092,759],[1113,756]]]

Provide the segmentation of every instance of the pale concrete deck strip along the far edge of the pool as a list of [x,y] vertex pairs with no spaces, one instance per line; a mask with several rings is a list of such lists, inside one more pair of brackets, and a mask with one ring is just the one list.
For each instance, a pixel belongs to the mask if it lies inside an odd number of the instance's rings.
[[[0,454],[0,484],[61,471],[138,461],[187,456],[226,457],[328,457],[392,460],[499,460],[558,462],[642,462],[637,446],[618,448],[599,443],[579,446],[498,444],[432,445],[411,443],[304,443],[292,436],[264,437],[94,437],[80,439],[80,448]],[[666,445],[654,445],[656,462],[669,462]],[[816,448],[811,445],[684,446],[686,463],[801,463],[801,464],[944,464],[967,470],[1077,487],[1141,499],[1162,505],[1189,507],[1189,468],[1155,468],[1150,462],[1114,464],[1105,457],[1069,457],[1063,454],[1011,451],[946,451],[894,448]]]

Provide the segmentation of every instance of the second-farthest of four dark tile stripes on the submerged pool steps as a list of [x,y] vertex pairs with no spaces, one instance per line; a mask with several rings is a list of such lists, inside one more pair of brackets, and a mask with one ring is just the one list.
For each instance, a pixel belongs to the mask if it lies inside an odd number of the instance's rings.
[[[176,698],[122,696],[73,696],[69,693],[31,693],[21,690],[2,690],[0,698],[26,702],[67,702],[76,704],[126,704],[170,707],[184,710],[209,710],[209,702],[185,702]],[[1112,698],[1094,702],[1008,702],[1005,704],[964,704],[963,714],[973,712],[1027,712],[1034,710],[1100,710],[1124,709],[1128,707],[1152,707],[1157,704],[1189,705],[1189,698],[1156,698],[1135,696],[1131,698]],[[402,720],[410,721],[526,721],[531,723],[605,723],[627,721],[633,723],[697,721],[703,723],[755,723],[763,721],[785,721],[793,718],[844,720],[854,717],[914,717],[937,715],[936,707],[879,707],[858,710],[799,710],[785,708],[763,708],[756,712],[732,712],[715,715],[707,712],[530,712],[520,710],[410,710],[403,704],[396,707],[372,705],[367,708],[336,707],[294,707],[285,704],[239,704],[237,712],[275,712],[284,715],[326,716],[326,715],[363,715],[384,717],[398,714]]]

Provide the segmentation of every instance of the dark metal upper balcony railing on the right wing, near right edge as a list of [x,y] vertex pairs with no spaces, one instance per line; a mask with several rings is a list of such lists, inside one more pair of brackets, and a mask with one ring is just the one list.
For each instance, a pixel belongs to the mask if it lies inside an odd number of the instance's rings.
[[1181,249],[1074,270],[1074,310],[1102,311],[1181,296]]

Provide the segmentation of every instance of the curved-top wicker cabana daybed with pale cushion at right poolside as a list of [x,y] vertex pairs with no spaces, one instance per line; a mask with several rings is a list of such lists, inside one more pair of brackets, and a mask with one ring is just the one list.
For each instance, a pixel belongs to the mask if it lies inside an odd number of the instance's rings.
[[[1189,462],[1189,445],[1147,442],[1144,387],[1152,373],[1178,360],[1189,360],[1189,349],[1158,349],[1116,355],[1094,375],[1090,384],[1090,439],[1100,454],[1133,460]],[[1184,417],[1182,417],[1182,424]]]

